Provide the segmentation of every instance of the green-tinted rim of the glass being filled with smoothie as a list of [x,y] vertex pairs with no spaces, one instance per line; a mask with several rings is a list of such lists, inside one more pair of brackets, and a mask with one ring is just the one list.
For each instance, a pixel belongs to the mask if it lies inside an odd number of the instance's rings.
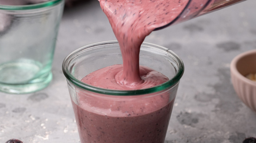
[[69,72],[68,65],[69,65],[70,61],[72,60],[72,58],[75,57],[77,54],[79,54],[79,52],[81,52],[85,49],[88,49],[88,48],[92,48],[94,46],[108,45],[108,44],[118,44],[118,42],[117,42],[117,40],[110,40],[110,41],[102,41],[102,42],[96,42],[96,43],[88,44],[88,45],[85,45],[85,46],[82,46],[82,47],[76,49],[75,51],[71,52],[68,56],[66,56],[65,59],[63,60],[63,63],[62,63],[62,71],[63,71],[66,79],[68,81],[70,81],[71,83],[73,83],[77,87],[80,87],[82,89],[92,91],[92,92],[95,92],[95,93],[100,93],[100,94],[105,94],[105,95],[133,96],[133,95],[143,95],[143,94],[159,92],[159,91],[165,90],[169,87],[173,87],[174,85],[176,85],[180,81],[180,79],[181,79],[181,77],[184,73],[184,64],[183,64],[183,62],[182,62],[182,60],[179,56],[177,56],[170,49],[167,49],[165,47],[162,47],[162,46],[159,46],[159,45],[156,45],[156,44],[148,43],[148,42],[143,42],[142,45],[144,45],[144,46],[147,46],[147,45],[148,46],[154,46],[154,47],[161,48],[162,50],[165,50],[167,53],[171,54],[171,56],[173,56],[175,58],[175,60],[178,64],[177,73],[173,76],[173,78],[169,79],[167,82],[162,83],[158,86],[145,88],[145,89],[138,89],[138,90],[105,89],[105,88],[99,88],[99,87],[91,86],[89,84],[85,84],[85,83],[81,82],[80,80],[76,79]]

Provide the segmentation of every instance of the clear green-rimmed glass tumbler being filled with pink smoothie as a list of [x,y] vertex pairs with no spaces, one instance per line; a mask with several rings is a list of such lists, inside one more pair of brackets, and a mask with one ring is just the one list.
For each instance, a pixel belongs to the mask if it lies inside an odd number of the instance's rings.
[[140,65],[163,73],[169,81],[139,90],[109,90],[80,81],[115,64],[122,64],[117,41],[83,46],[63,61],[81,143],[164,143],[183,62],[167,48],[143,43]]

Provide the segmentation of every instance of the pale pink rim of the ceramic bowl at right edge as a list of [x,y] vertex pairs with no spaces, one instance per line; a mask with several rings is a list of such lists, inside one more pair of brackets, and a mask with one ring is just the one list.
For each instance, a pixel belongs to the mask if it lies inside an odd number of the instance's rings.
[[256,56],[256,49],[254,50],[249,50],[246,52],[243,52],[237,56],[235,56],[231,63],[230,63],[230,71],[231,73],[233,73],[233,75],[235,75],[237,78],[239,78],[240,80],[244,81],[245,83],[251,85],[251,86],[255,86],[256,87],[256,82],[252,81],[248,78],[246,78],[244,75],[242,75],[236,68],[237,62],[242,59],[243,57],[249,56],[249,55],[255,55]]

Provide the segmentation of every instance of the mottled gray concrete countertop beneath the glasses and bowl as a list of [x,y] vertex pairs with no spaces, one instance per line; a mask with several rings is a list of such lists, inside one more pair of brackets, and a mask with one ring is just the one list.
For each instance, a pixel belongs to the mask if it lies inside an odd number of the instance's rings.
[[[146,42],[173,50],[185,72],[165,143],[242,143],[256,137],[256,112],[236,95],[229,65],[256,48],[256,1],[245,2],[152,32]],[[115,40],[97,0],[65,8],[53,61],[53,81],[38,92],[0,93],[0,143],[79,143],[62,61],[93,42]]]

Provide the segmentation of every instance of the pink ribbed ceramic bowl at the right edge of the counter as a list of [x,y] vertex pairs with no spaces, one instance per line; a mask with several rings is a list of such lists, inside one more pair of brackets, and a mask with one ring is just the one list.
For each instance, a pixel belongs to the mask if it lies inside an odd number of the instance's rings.
[[245,76],[256,73],[256,50],[236,56],[230,64],[231,80],[238,97],[256,112],[256,81]]

